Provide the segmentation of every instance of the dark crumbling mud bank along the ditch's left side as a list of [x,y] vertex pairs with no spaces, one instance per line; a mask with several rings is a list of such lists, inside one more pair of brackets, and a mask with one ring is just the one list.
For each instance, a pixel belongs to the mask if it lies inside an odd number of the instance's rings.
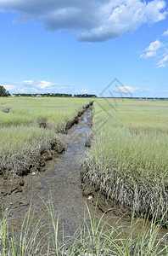
[[[68,121],[64,126],[64,129],[57,132],[59,134],[60,132],[67,133],[73,125],[78,124],[81,115],[85,113],[88,108],[92,107],[92,104],[93,102],[90,102],[90,104],[81,108],[74,119]],[[46,129],[47,127],[41,125],[41,128]],[[61,142],[59,139],[52,141],[52,143],[49,143],[48,148],[41,148],[39,154],[36,155],[36,157],[33,156],[33,160],[30,160],[30,163],[26,164],[25,166],[20,166],[20,169],[18,169],[17,172],[13,172],[12,169],[8,169],[7,167],[0,170],[0,201],[3,201],[3,196],[22,192],[26,183],[25,176],[27,176],[29,173],[32,175],[37,175],[38,172],[43,172],[49,160],[53,160],[57,154],[64,153],[65,144],[66,142]]]

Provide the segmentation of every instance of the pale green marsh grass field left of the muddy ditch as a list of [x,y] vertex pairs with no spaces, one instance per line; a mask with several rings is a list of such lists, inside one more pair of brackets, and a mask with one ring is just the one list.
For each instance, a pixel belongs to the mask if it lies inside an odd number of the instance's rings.
[[[22,173],[42,150],[59,143],[58,131],[64,131],[67,122],[88,102],[76,98],[0,97],[0,173]],[[6,108],[11,108],[8,113],[3,112]]]

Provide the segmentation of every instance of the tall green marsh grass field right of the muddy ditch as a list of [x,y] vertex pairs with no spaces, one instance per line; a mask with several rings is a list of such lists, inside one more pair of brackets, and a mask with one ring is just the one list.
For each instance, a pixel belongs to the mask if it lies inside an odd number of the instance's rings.
[[108,101],[94,103],[86,177],[110,201],[160,219],[168,208],[168,102]]

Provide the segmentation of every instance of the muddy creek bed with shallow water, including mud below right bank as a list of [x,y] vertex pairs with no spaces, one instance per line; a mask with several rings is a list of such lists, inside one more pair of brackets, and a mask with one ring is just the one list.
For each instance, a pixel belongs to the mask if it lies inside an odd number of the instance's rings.
[[[48,234],[51,218],[42,201],[47,204],[50,200],[53,201],[54,214],[56,218],[59,216],[60,237],[63,230],[64,237],[74,235],[79,228],[79,220],[82,221],[86,202],[90,211],[94,212],[96,202],[88,200],[88,196],[83,196],[81,190],[81,163],[85,158],[87,137],[91,128],[92,107],[82,114],[78,124],[73,125],[67,134],[59,135],[66,145],[64,154],[55,155],[53,160],[48,161],[43,170],[45,172],[38,172],[36,176],[28,174],[21,192],[4,196],[4,205],[9,212],[9,223],[15,232],[20,230],[20,225],[31,205],[32,227],[41,218],[40,236]],[[103,212],[98,208],[97,214],[101,217]],[[130,214],[117,207],[106,213],[104,218],[110,219],[110,224],[115,226],[122,223],[126,229],[131,222]],[[160,229],[160,236],[164,236],[166,232],[167,230]]]

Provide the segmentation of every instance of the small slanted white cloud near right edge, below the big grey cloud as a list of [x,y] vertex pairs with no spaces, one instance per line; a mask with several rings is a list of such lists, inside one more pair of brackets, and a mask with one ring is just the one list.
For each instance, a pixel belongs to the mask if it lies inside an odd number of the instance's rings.
[[158,54],[159,49],[163,47],[163,44],[159,41],[156,40],[153,43],[149,44],[147,49],[144,49],[145,53],[140,55],[141,58],[149,58],[149,57],[154,57]]

